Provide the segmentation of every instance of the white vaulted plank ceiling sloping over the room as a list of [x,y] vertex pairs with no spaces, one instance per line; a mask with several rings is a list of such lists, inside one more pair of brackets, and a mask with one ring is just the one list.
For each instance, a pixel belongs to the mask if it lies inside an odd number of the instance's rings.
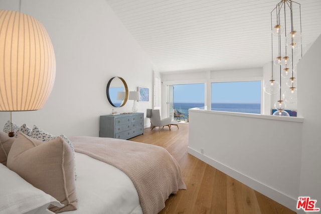
[[[279,0],[106,0],[158,71],[262,67]],[[303,52],[321,34],[321,1],[301,4]]]

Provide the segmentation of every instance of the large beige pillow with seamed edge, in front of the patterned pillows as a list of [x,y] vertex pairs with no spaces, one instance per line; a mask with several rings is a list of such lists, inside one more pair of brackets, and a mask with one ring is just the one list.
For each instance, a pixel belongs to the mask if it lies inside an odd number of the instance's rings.
[[77,209],[74,156],[61,137],[43,142],[18,132],[8,155],[7,166],[64,204],[62,208],[50,206],[51,211],[57,213]]

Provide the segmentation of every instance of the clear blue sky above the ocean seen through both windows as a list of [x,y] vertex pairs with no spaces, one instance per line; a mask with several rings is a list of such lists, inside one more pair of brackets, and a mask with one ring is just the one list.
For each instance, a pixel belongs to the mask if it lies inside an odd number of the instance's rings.
[[[204,103],[205,85],[185,84],[174,86],[175,103]],[[261,81],[212,83],[212,102],[260,103]]]

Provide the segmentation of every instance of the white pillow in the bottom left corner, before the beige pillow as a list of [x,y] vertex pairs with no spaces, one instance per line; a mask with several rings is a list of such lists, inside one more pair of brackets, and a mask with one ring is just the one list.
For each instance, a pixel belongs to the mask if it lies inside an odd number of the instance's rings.
[[3,164],[0,164],[0,174],[0,213],[53,213],[47,209],[50,204],[63,206]]

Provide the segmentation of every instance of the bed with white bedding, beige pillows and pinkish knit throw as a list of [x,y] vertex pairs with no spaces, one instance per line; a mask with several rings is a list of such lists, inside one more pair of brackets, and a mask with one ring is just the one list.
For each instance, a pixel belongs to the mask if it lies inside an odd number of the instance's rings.
[[[6,138],[2,133],[0,135],[2,149],[6,150],[6,142],[12,139]],[[157,213],[165,207],[165,201],[170,194],[176,193],[179,189],[186,189],[177,161],[162,147],[129,140],[88,136],[70,137],[69,140],[74,148],[62,137],[44,143],[19,132],[9,152],[7,148],[8,167],[0,167],[0,185],[2,190],[4,189],[0,193],[0,213]],[[52,143],[53,141],[55,143]],[[28,147],[28,152],[22,152],[22,147]],[[47,153],[45,147],[49,147]],[[41,155],[31,152],[40,148]],[[27,157],[22,157],[23,153],[26,153]],[[58,161],[57,156],[62,158],[58,158]],[[25,161],[26,158],[28,161]],[[50,166],[39,169],[45,163]],[[57,167],[51,166],[54,163],[57,163],[59,170],[53,169]],[[30,175],[30,171],[38,169],[45,174]],[[28,188],[30,183],[36,186],[36,196],[28,195],[33,192],[29,190],[22,194],[22,190],[26,188],[18,188],[16,178],[12,179],[11,176],[23,177],[25,182],[28,181]],[[55,176],[59,178],[52,178]],[[50,183],[50,190],[42,187],[45,185],[39,180],[42,177],[46,177],[46,185]],[[66,179],[62,187],[57,188],[61,183],[60,177]],[[7,190],[3,186],[7,186]],[[17,191],[12,190],[17,188]],[[63,197],[52,197],[55,191],[60,190]],[[50,191],[54,193],[51,194]],[[27,201],[20,198],[18,207],[12,205],[17,204],[17,194],[28,195]],[[39,202],[38,197],[45,199]],[[30,198],[35,198],[35,206],[31,205],[34,202]],[[67,209],[66,204],[69,207]],[[48,206],[51,211],[47,209]]]

